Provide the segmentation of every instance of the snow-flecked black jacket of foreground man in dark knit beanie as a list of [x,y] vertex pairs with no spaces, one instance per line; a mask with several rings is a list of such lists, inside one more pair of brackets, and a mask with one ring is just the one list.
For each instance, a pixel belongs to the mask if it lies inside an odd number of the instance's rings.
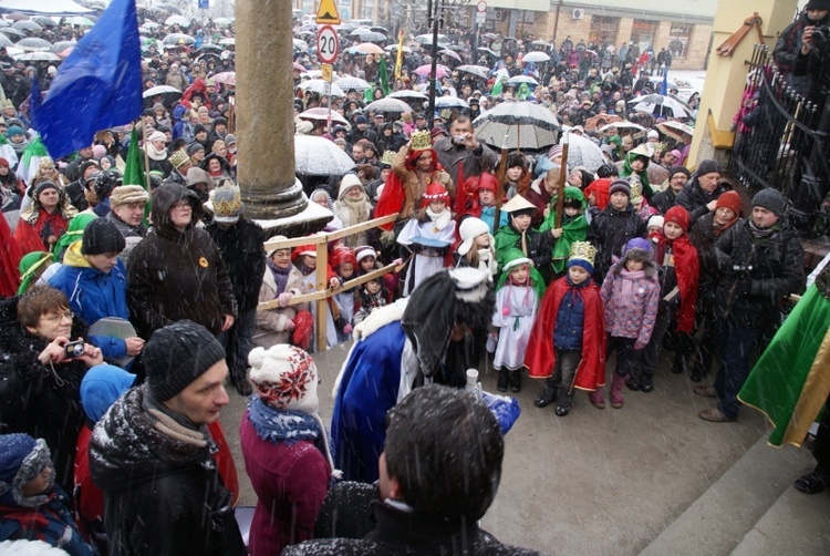
[[110,554],[247,554],[230,493],[210,456],[212,443],[199,446],[164,430],[201,432],[206,439],[209,433],[165,411],[174,424],[163,429],[158,408],[145,387],[136,387],[101,419],[90,441],[92,480],[104,491]]

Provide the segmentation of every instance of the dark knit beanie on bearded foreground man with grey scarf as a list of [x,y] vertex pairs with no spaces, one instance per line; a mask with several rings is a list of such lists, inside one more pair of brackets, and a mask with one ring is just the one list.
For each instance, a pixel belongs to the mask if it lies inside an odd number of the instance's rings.
[[156,330],[144,347],[147,383],[159,402],[174,398],[222,359],[225,349],[214,334],[187,319]]

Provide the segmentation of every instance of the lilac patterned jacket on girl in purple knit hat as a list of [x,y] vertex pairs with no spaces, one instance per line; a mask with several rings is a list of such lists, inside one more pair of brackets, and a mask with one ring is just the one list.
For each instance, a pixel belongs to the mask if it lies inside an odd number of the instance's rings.
[[649,262],[644,276],[634,280],[631,299],[623,298],[623,282],[621,271],[625,267],[616,262],[611,267],[602,282],[600,296],[605,307],[605,331],[618,338],[635,338],[637,349],[649,343],[654,330],[660,305],[660,281],[657,269]]

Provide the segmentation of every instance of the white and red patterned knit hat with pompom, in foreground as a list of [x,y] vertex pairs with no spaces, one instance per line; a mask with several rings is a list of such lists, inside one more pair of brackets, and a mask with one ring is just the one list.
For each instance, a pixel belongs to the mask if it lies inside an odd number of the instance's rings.
[[288,343],[255,348],[248,363],[251,383],[268,405],[310,415],[318,412],[318,370],[305,351]]

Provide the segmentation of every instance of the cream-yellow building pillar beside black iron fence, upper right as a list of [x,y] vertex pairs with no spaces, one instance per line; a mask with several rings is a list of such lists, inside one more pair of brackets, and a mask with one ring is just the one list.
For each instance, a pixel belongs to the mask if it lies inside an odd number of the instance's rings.
[[798,0],[730,0],[719,2],[715,13],[712,51],[706,71],[706,83],[701,94],[695,136],[692,141],[687,166],[698,159],[720,158],[718,151],[729,150],[735,134],[729,131],[732,119],[740,107],[740,97],[747,75],[747,61],[758,43],[758,32],[753,29],[730,56],[719,55],[715,49],[735,33],[744,20],[757,12],[761,18],[765,44],[775,48],[778,34],[792,21]]

